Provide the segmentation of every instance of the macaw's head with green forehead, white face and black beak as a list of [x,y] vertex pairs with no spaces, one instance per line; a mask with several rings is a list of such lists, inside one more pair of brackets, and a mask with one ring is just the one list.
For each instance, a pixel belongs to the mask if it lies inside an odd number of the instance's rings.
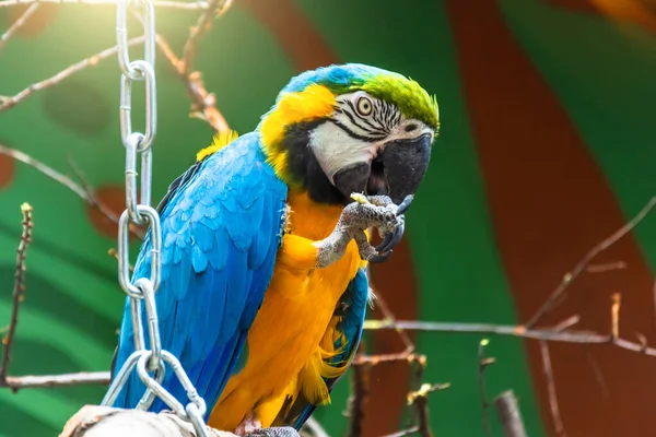
[[293,78],[258,129],[278,176],[314,201],[358,192],[398,204],[425,175],[440,113],[417,82],[347,63]]

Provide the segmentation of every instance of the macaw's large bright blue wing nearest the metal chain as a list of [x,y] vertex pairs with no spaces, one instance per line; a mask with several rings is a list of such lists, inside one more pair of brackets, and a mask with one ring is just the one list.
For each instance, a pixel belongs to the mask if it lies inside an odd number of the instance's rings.
[[[221,149],[176,179],[161,206],[162,283],[156,294],[162,347],[177,356],[208,404],[236,369],[247,331],[273,273],[286,185],[266,163],[259,134]],[[133,279],[150,274],[150,234]],[[144,308],[142,308],[144,310]],[[145,340],[148,330],[144,323]],[[133,352],[126,300],[115,368]],[[162,383],[183,404],[171,369]],[[144,386],[134,374],[115,406],[133,408]],[[156,400],[151,411],[166,406]]]

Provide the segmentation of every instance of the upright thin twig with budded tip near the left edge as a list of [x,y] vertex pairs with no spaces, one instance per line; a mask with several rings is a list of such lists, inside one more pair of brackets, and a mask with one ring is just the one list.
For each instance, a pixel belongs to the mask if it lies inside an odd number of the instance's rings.
[[16,273],[14,277],[14,288],[12,294],[11,317],[9,319],[9,329],[7,336],[2,339],[2,363],[0,364],[0,386],[7,383],[7,371],[9,368],[9,359],[11,356],[11,346],[16,327],[19,324],[19,308],[23,302],[25,293],[25,257],[27,256],[27,247],[32,243],[32,206],[28,203],[21,205],[23,213],[23,233],[21,234],[21,243],[16,250]]

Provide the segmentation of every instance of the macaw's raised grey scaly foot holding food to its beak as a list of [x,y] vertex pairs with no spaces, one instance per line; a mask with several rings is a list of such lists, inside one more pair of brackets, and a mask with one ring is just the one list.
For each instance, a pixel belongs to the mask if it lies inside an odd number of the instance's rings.
[[377,227],[382,233],[394,235],[385,245],[387,253],[400,240],[403,233],[403,213],[411,198],[406,199],[398,206],[387,196],[370,196],[365,200],[365,202],[349,203],[342,211],[335,231],[325,239],[314,243],[319,251],[317,267],[328,267],[339,260],[352,239],[358,244],[362,259],[379,257],[378,251],[370,245],[364,234],[364,231],[370,227]]

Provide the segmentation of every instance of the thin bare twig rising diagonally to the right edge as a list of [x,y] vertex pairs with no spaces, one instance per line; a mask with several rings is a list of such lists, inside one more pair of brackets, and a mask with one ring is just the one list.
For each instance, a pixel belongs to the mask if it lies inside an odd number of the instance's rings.
[[656,205],[656,197],[649,199],[647,204],[643,206],[643,209],[625,225],[616,231],[612,235],[610,235],[605,240],[597,244],[590,251],[588,251],[581,261],[574,267],[572,272],[564,275],[562,282],[555,287],[555,290],[551,293],[549,298],[542,304],[540,308],[536,311],[536,314],[528,319],[525,323],[527,329],[535,327],[541,319],[549,312],[549,310],[553,307],[554,303],[565,293],[567,287],[583,273],[587,267],[590,264],[593,259],[597,257],[600,252],[608,249],[612,245],[614,245],[618,240],[620,240],[624,235],[629,234],[640,222],[642,222],[647,214],[654,209]]

